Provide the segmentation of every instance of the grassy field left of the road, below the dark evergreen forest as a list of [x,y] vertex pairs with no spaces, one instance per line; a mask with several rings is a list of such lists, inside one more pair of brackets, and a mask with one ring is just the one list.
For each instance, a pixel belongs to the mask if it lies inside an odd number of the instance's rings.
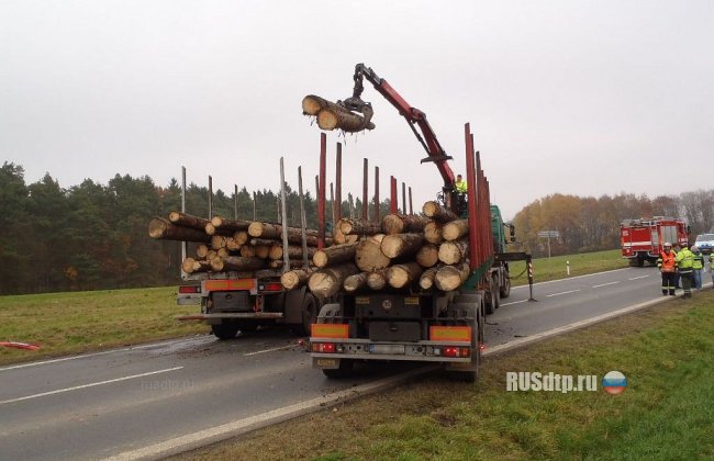
[[36,351],[0,348],[0,363],[85,352],[205,333],[175,317],[176,288],[0,296],[0,340],[37,344]]

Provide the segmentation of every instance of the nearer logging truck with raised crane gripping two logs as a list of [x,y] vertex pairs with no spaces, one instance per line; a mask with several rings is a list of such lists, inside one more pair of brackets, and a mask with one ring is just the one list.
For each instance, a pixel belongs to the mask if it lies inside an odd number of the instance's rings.
[[[484,344],[484,316],[510,294],[509,261],[529,263],[529,255],[504,250],[509,227],[498,206],[490,204],[488,181],[468,124],[468,191],[461,198],[447,162],[451,157],[442,148],[426,115],[371,68],[357,65],[352,98],[327,103],[308,95],[303,112],[315,115],[322,130],[373,128],[371,105],[360,99],[364,78],[406,120],[427,153],[422,162],[437,167],[444,187],[440,200],[424,204],[423,216],[397,213],[392,191],[392,214],[381,226],[372,231],[367,223],[336,226],[344,234],[361,231],[362,239],[353,244],[354,259],[336,258],[335,265],[323,265],[310,274],[309,288],[324,303],[311,329],[313,367],[327,378],[343,378],[354,372],[358,361],[432,362],[473,382]],[[513,236],[513,227],[510,234]]]

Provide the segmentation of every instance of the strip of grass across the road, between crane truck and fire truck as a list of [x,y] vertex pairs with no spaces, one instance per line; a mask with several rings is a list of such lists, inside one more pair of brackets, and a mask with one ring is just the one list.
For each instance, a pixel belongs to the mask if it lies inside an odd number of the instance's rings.
[[[538,258],[533,260],[535,281],[545,282],[548,280],[565,279],[568,277],[568,265],[570,266],[570,277],[628,267],[627,261],[622,258],[622,252],[618,249]],[[527,276],[525,274],[525,262],[512,262],[510,269],[511,276],[514,277],[514,285],[528,283]]]

